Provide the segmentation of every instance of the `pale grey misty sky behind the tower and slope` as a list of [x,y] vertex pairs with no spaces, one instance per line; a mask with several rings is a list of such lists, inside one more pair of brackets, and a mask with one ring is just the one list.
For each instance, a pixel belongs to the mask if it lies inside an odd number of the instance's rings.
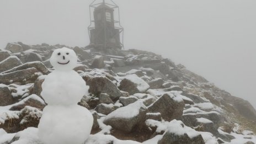
[[[256,1],[114,0],[125,49],[182,63],[256,108]],[[91,0],[0,0],[0,49],[7,42],[89,44]]]

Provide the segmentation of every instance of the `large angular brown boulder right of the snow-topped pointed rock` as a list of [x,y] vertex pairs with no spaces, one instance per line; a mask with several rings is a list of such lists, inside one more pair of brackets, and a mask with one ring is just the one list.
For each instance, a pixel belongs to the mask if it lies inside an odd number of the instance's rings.
[[178,119],[183,114],[185,103],[183,99],[172,93],[163,94],[156,102],[148,106],[148,110],[152,113],[161,113],[164,120],[170,121]]

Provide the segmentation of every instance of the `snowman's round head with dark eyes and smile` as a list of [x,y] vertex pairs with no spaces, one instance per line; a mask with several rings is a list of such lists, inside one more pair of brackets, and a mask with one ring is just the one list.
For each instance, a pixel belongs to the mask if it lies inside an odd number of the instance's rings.
[[73,50],[63,47],[54,50],[50,62],[55,70],[70,71],[77,65],[77,55]]

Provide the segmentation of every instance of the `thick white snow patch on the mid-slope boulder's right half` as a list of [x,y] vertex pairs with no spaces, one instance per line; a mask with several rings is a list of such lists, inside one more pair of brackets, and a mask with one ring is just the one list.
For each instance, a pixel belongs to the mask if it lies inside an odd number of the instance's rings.
[[138,77],[136,74],[127,75],[127,76],[125,76],[125,78],[128,79],[129,81],[137,84],[137,89],[140,92],[145,92],[148,88],[150,88],[150,85],[148,85],[145,81],[143,81],[143,79]]

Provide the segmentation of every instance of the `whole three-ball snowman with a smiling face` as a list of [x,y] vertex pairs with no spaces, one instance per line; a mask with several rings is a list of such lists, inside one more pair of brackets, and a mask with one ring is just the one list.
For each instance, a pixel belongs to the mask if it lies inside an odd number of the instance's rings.
[[82,144],[90,135],[93,116],[77,105],[88,86],[73,68],[77,65],[76,53],[63,47],[56,49],[50,58],[55,71],[42,83],[45,106],[39,122],[39,138],[44,144]]

